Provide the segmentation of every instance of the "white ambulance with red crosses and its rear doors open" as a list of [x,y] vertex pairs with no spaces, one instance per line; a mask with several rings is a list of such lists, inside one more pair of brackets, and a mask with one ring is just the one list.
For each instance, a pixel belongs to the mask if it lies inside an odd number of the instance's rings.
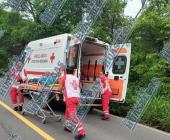
[[[90,89],[105,67],[101,60],[105,57],[110,45],[97,38],[86,37],[83,43],[71,34],[56,35],[36,41],[31,41],[27,49],[33,52],[28,58],[22,75],[28,79],[40,78],[49,72],[54,72],[58,61],[66,68],[74,69],[80,79],[83,90]],[[112,50],[116,48],[113,46]],[[118,57],[109,70],[108,78],[112,90],[112,100],[125,102],[129,67],[130,67],[131,44],[124,44]],[[99,95],[96,99],[101,99]]]

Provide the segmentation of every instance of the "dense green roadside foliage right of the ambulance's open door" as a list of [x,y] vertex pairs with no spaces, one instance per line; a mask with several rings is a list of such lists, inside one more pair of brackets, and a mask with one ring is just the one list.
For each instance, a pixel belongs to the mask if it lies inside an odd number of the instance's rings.
[[170,2],[151,0],[139,17],[131,37],[132,56],[126,104],[111,104],[112,113],[125,116],[135,104],[139,87],[147,87],[152,77],[161,81],[157,96],[141,122],[170,132],[170,65],[158,56],[170,39]]

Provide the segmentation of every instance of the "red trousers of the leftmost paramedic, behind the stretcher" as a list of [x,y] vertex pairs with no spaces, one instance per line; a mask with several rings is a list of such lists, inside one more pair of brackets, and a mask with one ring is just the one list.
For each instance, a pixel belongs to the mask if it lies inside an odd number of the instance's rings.
[[24,96],[16,87],[10,88],[10,99],[14,107],[22,106],[24,104]]

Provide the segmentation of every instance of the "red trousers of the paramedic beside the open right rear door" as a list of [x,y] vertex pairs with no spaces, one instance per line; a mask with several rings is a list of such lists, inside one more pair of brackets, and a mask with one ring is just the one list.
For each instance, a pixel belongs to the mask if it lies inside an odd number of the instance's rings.
[[107,89],[102,95],[102,108],[103,108],[104,116],[106,117],[109,116],[109,103],[110,103],[111,94],[112,94],[111,91]]

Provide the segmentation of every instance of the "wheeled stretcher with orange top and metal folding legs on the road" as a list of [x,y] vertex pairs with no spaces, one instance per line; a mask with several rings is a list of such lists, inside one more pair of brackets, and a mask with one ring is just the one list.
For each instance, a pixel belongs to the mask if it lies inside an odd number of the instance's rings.
[[[30,84],[28,82],[20,85],[20,90],[27,90],[24,94],[30,95],[31,100],[24,106],[22,115],[29,113],[42,119],[42,123],[46,123],[47,118],[56,118],[61,121],[61,115],[56,114],[49,105],[49,102],[61,94],[59,92],[59,85],[41,85],[39,82]],[[36,94],[35,94],[36,92]]]

